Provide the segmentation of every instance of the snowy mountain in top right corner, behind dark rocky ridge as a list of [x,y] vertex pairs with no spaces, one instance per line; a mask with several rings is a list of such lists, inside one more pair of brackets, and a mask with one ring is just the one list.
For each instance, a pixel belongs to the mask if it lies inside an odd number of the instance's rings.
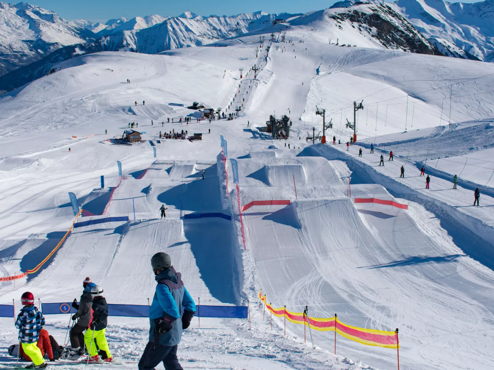
[[447,56],[494,60],[494,1],[397,0],[391,5]]

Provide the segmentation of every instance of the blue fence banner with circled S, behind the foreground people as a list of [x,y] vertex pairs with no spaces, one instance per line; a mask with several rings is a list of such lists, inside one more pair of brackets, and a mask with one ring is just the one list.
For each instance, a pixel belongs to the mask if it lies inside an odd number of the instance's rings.
[[[9,306],[12,307],[12,306]],[[43,315],[56,315],[69,312],[76,312],[72,308],[72,302],[61,303],[41,303]],[[108,304],[108,314],[110,316],[125,317],[149,317],[149,306],[139,304]],[[247,319],[247,306],[196,306],[194,316]],[[13,308],[10,316],[13,317]]]

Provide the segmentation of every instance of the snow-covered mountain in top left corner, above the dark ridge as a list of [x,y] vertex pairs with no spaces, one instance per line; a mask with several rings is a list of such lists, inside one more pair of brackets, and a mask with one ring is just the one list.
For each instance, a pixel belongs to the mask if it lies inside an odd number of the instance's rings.
[[86,28],[24,2],[0,2],[0,75],[67,45],[94,40]]

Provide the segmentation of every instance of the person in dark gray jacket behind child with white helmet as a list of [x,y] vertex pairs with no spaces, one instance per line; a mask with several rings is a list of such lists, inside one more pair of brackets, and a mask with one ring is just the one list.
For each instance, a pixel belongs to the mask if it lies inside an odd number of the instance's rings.
[[92,305],[92,297],[90,293],[90,289],[95,286],[89,277],[82,282],[82,287],[84,290],[82,291],[80,303],[77,304],[77,299],[74,298],[72,302],[72,307],[74,307],[77,312],[72,316],[72,320],[79,321],[74,325],[70,331],[70,345],[71,350],[68,353],[70,357],[82,356],[84,354],[84,330],[87,330],[89,327],[89,321],[91,320],[91,305]]

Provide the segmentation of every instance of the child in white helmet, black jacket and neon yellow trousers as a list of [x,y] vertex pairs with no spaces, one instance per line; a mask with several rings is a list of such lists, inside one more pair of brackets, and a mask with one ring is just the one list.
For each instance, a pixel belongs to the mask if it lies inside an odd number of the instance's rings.
[[[89,351],[89,364],[101,363],[98,356],[102,353],[102,360],[105,362],[112,362],[112,354],[110,348],[108,348],[108,342],[106,341],[105,332],[108,318],[108,304],[103,296],[103,289],[94,285],[91,288],[91,296],[93,299],[92,304],[92,318],[89,324],[89,329],[84,334],[84,342],[86,343],[87,350]],[[98,350],[96,350],[96,343],[98,343]]]

